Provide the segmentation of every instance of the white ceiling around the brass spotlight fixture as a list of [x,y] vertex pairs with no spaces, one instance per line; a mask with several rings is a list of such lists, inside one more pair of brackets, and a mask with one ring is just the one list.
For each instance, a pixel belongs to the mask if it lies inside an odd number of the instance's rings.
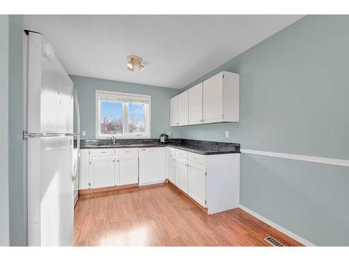
[[[24,15],[68,74],[182,88],[302,15]],[[126,56],[145,70],[126,68]]]

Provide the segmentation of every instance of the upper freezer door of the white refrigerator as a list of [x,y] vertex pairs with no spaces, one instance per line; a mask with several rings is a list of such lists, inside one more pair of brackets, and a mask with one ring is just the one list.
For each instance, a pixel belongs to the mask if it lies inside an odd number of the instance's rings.
[[73,81],[40,33],[28,35],[27,132],[73,133]]

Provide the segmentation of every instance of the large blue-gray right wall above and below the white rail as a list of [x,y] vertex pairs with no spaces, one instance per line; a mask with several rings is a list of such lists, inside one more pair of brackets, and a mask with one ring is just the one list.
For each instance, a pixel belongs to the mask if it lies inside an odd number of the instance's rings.
[[[181,138],[349,159],[348,46],[348,15],[300,19],[183,88],[240,74],[240,121],[181,127]],[[240,186],[242,205],[309,242],[349,245],[349,168],[242,155]]]

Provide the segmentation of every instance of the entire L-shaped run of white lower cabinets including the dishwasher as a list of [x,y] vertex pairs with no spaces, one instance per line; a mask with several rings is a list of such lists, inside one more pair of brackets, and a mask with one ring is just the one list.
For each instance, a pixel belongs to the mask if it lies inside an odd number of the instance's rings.
[[[166,161],[167,160],[167,161]],[[208,214],[239,206],[240,155],[199,155],[165,148],[81,150],[79,189],[168,180],[207,208]]]

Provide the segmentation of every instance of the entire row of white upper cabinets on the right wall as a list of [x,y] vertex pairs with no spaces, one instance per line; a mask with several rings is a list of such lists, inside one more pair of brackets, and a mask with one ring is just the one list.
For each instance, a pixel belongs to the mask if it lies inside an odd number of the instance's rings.
[[170,100],[171,126],[239,121],[239,74],[220,72]]

